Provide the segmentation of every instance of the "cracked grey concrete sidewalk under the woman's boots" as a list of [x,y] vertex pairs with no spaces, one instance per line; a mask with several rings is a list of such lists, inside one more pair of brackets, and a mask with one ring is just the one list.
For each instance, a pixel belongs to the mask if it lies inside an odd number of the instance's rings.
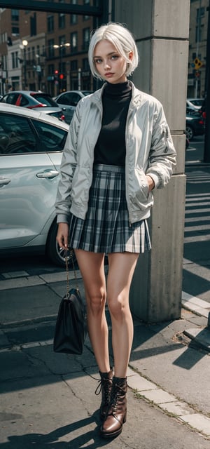
[[52,351],[66,273],[16,276],[0,281],[0,448],[209,447],[209,303],[183,293],[181,319],[148,325],[134,318],[127,423],[106,441],[88,337],[83,356]]

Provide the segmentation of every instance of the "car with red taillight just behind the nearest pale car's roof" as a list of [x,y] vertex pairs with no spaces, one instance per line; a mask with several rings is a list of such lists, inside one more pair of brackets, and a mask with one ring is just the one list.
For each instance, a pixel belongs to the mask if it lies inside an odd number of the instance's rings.
[[41,108],[45,114],[57,117],[57,119],[62,121],[65,120],[64,109],[60,108],[55,100],[45,92],[12,91],[3,95],[0,102],[27,107],[28,109]]

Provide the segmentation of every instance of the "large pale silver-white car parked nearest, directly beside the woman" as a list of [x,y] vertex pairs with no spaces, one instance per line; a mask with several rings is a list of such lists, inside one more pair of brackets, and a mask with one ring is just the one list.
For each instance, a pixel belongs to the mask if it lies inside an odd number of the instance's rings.
[[0,254],[45,253],[64,265],[55,240],[55,196],[69,126],[0,102]]

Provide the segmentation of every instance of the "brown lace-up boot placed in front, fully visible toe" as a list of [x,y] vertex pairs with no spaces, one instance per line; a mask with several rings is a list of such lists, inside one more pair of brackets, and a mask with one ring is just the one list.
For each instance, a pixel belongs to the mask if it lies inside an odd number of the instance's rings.
[[104,438],[118,436],[123,430],[127,413],[126,392],[127,377],[113,377],[110,406],[101,426],[101,434]]

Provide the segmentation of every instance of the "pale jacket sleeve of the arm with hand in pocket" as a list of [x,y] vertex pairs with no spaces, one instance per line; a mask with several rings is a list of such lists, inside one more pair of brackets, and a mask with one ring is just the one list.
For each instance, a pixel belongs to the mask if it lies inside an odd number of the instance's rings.
[[158,102],[154,114],[152,143],[146,175],[150,175],[155,182],[155,188],[160,189],[169,182],[175,165],[176,150],[164,110]]

